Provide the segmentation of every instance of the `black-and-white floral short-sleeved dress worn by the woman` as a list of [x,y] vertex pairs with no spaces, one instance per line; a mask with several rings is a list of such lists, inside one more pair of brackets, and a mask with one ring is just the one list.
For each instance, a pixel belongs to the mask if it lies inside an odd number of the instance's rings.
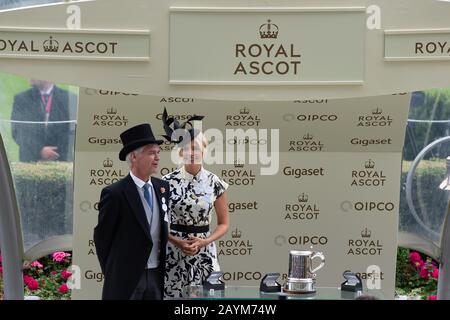
[[[226,182],[204,168],[193,176],[182,167],[162,179],[170,183],[169,224],[209,225],[214,201],[228,188]],[[211,227],[210,231],[214,229]],[[210,231],[192,235],[206,238]],[[170,230],[170,233],[181,239],[189,238],[189,234],[185,232]],[[194,256],[183,254],[181,249],[168,242],[164,296],[183,297],[183,288],[201,285],[211,272],[219,270],[214,242],[201,248]]]

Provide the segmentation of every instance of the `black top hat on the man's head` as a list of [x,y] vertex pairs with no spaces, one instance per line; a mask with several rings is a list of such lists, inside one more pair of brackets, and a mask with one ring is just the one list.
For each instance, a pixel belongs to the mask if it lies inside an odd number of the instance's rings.
[[119,159],[125,161],[126,156],[133,150],[136,150],[147,144],[162,144],[163,140],[156,140],[152,128],[148,123],[139,124],[120,134],[123,148],[120,150]]

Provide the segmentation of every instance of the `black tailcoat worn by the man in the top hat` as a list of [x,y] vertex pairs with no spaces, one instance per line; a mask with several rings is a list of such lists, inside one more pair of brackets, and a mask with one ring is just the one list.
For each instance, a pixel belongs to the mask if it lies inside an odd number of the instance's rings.
[[[159,269],[164,275],[168,224],[164,221],[162,198],[167,205],[170,190],[167,181],[151,177],[151,182],[160,210]],[[149,229],[144,206],[130,175],[102,190],[94,242],[105,276],[103,299],[130,299],[153,247]],[[162,293],[163,279],[159,285]]]

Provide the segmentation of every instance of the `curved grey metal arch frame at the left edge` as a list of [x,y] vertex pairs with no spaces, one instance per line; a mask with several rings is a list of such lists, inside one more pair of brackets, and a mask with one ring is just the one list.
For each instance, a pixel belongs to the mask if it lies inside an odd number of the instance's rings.
[[7,300],[23,300],[23,239],[19,207],[0,133],[0,247],[4,274],[4,293]]

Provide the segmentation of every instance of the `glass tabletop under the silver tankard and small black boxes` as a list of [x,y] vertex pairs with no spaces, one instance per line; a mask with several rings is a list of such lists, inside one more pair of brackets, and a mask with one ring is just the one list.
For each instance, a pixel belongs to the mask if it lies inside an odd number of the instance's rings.
[[186,299],[262,299],[262,300],[384,300],[387,299],[381,290],[364,290],[363,292],[341,291],[336,287],[317,287],[315,293],[288,294],[284,292],[265,293],[259,291],[259,286],[230,286],[225,290],[205,290],[203,286],[185,288]]

